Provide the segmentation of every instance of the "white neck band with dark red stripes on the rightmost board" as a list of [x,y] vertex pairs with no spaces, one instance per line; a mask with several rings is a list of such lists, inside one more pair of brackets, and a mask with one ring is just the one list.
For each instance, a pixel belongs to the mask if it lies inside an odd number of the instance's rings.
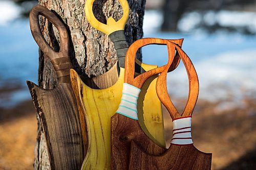
[[172,144],[187,145],[193,144],[191,137],[191,117],[184,117],[173,120]]

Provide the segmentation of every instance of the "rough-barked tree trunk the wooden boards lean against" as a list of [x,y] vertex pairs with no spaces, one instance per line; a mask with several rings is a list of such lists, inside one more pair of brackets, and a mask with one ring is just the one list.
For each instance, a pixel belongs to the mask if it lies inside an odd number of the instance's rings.
[[[38,0],[39,4],[53,10],[66,24],[71,37],[70,56],[76,71],[85,77],[98,76],[109,70],[116,62],[114,45],[107,35],[95,30],[88,23],[84,15],[85,0]],[[125,26],[126,39],[131,44],[142,38],[142,24],[145,0],[129,0],[130,18]],[[118,20],[122,16],[122,8],[118,0],[101,0],[94,3],[94,15],[106,23],[112,16]],[[49,24],[44,17],[40,17],[40,26],[46,40],[50,43]],[[54,27],[54,26],[53,26]],[[56,40],[58,33],[54,28]],[[58,43],[50,43],[54,50],[58,50]],[[141,52],[137,58],[141,59]],[[57,84],[57,76],[52,64],[39,51],[38,84],[42,88],[52,89]],[[39,117],[37,129],[37,142],[35,146],[34,169],[50,169],[48,151],[44,133],[41,130]]]

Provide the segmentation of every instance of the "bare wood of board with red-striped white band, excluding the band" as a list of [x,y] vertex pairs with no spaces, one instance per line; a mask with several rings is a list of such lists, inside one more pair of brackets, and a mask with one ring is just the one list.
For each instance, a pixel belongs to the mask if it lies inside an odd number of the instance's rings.
[[[182,115],[170,101],[167,92],[166,77],[170,63],[157,80],[159,99],[173,119],[192,115],[199,92],[198,77],[194,65],[179,46],[175,45],[175,48],[185,65],[189,79],[188,101]],[[166,152],[158,155],[152,155],[143,150],[140,147],[140,141],[133,140],[131,144],[129,169],[210,169],[210,167],[211,154],[200,152],[193,144],[171,144]]]

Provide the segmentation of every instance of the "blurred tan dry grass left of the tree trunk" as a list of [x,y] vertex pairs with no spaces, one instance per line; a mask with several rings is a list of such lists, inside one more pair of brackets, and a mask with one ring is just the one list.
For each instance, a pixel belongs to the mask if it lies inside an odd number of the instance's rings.
[[32,102],[0,111],[0,169],[33,169],[37,120]]

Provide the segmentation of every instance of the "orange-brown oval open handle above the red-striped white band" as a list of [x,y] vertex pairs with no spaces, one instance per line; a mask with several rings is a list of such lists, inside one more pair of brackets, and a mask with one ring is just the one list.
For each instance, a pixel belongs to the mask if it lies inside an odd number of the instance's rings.
[[170,116],[173,120],[180,119],[180,118],[186,118],[191,117],[194,111],[194,108],[197,103],[198,94],[199,94],[199,81],[196,69],[187,56],[187,54],[176,44],[173,43],[175,46],[177,53],[179,53],[181,60],[186,68],[187,76],[188,76],[188,83],[189,83],[189,92],[188,92],[188,100],[186,103],[186,106],[184,108],[184,111],[182,114],[178,112],[176,107],[174,106],[173,102],[170,100],[168,91],[167,91],[167,84],[166,84],[166,78],[167,78],[167,70],[162,71],[162,73],[159,75],[157,84],[156,84],[156,91],[158,98],[162,102],[162,104],[166,107],[168,110]]

